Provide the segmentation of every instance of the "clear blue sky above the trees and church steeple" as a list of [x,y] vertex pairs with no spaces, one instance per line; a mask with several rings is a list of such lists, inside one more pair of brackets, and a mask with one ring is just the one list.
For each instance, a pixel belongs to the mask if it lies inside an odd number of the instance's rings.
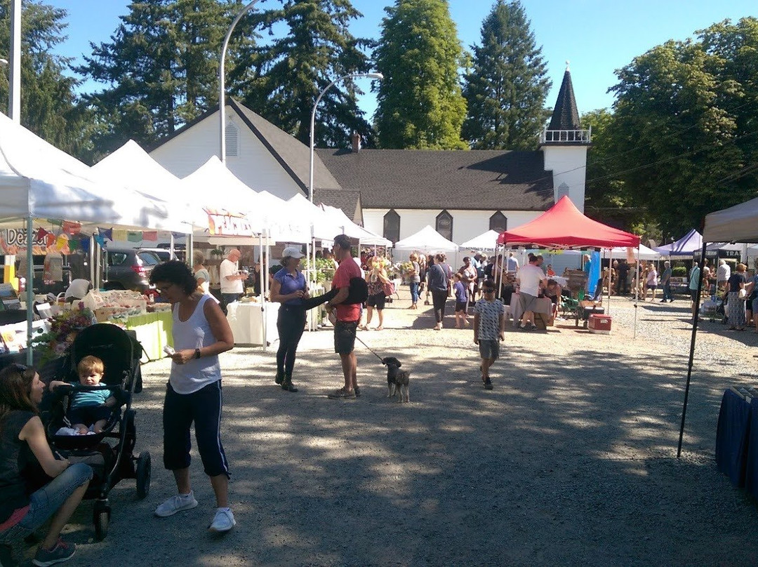
[[[275,1],[262,0],[260,4],[265,8]],[[129,4],[127,0],[46,3],[68,12],[68,39],[58,47],[58,53],[79,59],[83,53],[89,55],[89,42],[108,40]],[[466,49],[479,42],[481,22],[493,3],[494,0],[449,0],[450,15]],[[390,0],[352,0],[364,15],[352,24],[353,35],[378,38],[384,6],[392,4]],[[736,21],[745,16],[758,17],[756,0],[522,0],[522,5],[531,20],[537,45],[543,47],[553,81],[548,105],[555,103],[568,60],[580,113],[612,105],[612,95],[606,91],[615,83],[614,70],[636,55],[667,39],[686,39],[696,30],[726,18]],[[83,86],[85,90],[97,88],[96,83]],[[371,114],[375,108],[373,97],[365,96],[361,106]]]

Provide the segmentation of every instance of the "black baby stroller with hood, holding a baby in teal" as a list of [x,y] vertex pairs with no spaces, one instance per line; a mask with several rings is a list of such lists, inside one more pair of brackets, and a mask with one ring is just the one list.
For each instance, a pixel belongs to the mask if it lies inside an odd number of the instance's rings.
[[[111,518],[108,493],[118,481],[136,478],[136,492],[140,500],[150,490],[150,453],[143,451],[139,456],[134,456],[136,411],[132,409],[132,395],[142,391],[139,372],[141,354],[142,346],[121,327],[100,323],[83,329],[71,345],[67,360],[61,366],[61,375],[56,377],[75,384],[55,388],[50,410],[45,416],[46,431],[53,448],[71,462],[86,462],[94,471],[84,498],[95,500],[92,518],[98,540],[108,534]],[[105,374],[97,386],[79,384],[77,365],[89,355],[97,356],[105,364]],[[61,427],[70,426],[65,417],[70,405],[70,393],[106,388],[111,390],[116,404],[101,433],[56,434]]]

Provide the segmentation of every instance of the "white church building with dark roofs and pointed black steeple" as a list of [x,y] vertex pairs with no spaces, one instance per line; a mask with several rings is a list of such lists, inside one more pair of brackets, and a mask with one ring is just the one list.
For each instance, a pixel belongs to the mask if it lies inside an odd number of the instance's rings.
[[[283,199],[308,195],[309,147],[229,99],[227,167],[253,190]],[[553,117],[534,151],[317,149],[314,202],[396,242],[434,227],[465,242],[486,230],[517,227],[568,195],[584,211],[590,131],[581,130],[565,71]],[[177,130],[150,155],[178,177],[218,155],[218,109]],[[212,187],[208,188],[212,191]]]

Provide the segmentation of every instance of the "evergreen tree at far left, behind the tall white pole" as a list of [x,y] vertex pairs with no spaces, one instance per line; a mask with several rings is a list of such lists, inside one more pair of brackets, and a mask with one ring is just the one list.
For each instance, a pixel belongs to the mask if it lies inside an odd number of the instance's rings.
[[[11,50],[11,6],[0,0],[0,53]],[[52,145],[86,159],[90,117],[64,75],[69,60],[52,55],[64,39],[66,11],[42,2],[23,2],[21,31],[21,124]],[[0,111],[8,114],[8,69],[0,69]]]

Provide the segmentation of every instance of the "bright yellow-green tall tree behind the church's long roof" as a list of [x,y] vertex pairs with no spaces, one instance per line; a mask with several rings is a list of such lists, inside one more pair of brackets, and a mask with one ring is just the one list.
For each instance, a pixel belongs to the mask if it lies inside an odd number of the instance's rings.
[[382,148],[465,149],[464,52],[446,0],[396,0],[374,51],[384,80],[375,124]]

